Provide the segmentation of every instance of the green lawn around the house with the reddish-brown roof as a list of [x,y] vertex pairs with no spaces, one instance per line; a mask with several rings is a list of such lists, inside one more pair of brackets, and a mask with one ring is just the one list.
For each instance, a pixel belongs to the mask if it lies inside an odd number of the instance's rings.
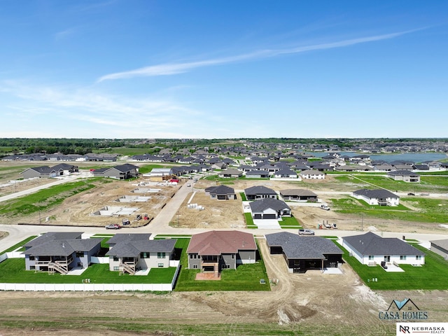
[[[190,239],[188,239],[189,242]],[[260,256],[255,264],[238,265],[237,269],[223,269],[221,280],[195,280],[199,269],[187,269],[188,255],[186,247],[181,255],[181,272],[176,283],[176,291],[194,290],[270,290],[265,264]],[[258,241],[257,241],[258,246]],[[265,284],[260,284],[260,279],[265,279]]]

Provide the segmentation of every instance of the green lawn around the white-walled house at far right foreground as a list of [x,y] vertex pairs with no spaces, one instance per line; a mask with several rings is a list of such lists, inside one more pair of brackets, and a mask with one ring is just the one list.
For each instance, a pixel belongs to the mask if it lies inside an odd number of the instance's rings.
[[[335,242],[337,244],[337,242]],[[414,267],[400,265],[405,272],[386,272],[380,265],[362,265],[355,257],[349,256],[348,251],[337,244],[344,251],[343,258],[360,279],[373,290],[447,290],[448,289],[448,262],[440,255],[419,246],[411,244],[426,253],[425,265]],[[378,281],[371,281],[371,279]],[[370,281],[369,281],[370,280]]]

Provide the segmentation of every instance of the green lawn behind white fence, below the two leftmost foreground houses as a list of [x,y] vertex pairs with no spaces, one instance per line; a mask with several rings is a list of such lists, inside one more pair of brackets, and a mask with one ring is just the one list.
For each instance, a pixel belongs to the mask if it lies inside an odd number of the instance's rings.
[[0,282],[82,283],[83,279],[90,279],[90,283],[170,283],[174,272],[176,267],[151,269],[147,276],[120,275],[119,272],[109,271],[109,264],[93,264],[81,275],[51,275],[47,272],[26,271],[25,259],[12,258],[0,263]]

